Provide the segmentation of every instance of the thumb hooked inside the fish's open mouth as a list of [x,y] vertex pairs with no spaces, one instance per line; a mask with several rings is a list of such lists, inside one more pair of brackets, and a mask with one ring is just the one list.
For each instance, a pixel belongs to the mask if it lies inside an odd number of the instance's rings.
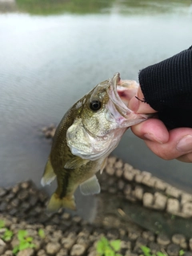
[[140,86],[138,87],[137,95],[130,99],[128,108],[139,114],[152,114],[156,112],[153,108],[150,108],[149,104],[146,104]]

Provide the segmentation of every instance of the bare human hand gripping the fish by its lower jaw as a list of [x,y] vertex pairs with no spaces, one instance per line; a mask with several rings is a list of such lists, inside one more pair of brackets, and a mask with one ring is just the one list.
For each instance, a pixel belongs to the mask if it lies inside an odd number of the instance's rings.
[[[136,95],[143,100],[141,87]],[[140,114],[155,113],[149,104],[133,97],[129,108]],[[154,154],[164,160],[178,159],[183,162],[192,162],[192,128],[174,128],[168,130],[165,124],[156,117],[131,127],[132,132],[145,141]]]

